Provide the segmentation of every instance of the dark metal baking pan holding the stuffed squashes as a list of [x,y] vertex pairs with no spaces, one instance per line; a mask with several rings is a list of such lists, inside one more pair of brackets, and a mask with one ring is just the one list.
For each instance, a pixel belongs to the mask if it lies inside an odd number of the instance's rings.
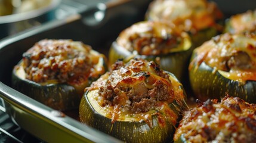
[[[248,0],[249,1],[249,0]],[[23,52],[41,39],[73,39],[108,54],[110,44],[131,24],[144,19],[150,0],[119,0],[98,4],[81,14],[55,20],[0,41],[0,97],[11,119],[21,128],[46,142],[122,142],[98,130],[82,125],[73,114],[53,110],[11,88],[11,71]],[[216,1],[221,9],[229,1]],[[250,4],[255,2],[250,1]],[[232,2],[233,3],[233,2]],[[243,2],[244,3],[244,2]],[[239,9],[232,5],[228,15],[254,7]]]

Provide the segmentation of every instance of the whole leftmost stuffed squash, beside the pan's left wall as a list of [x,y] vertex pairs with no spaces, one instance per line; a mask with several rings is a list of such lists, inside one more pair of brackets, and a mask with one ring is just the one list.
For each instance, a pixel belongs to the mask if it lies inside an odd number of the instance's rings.
[[56,110],[79,108],[84,88],[105,73],[105,57],[82,42],[44,39],[14,67],[13,88]]

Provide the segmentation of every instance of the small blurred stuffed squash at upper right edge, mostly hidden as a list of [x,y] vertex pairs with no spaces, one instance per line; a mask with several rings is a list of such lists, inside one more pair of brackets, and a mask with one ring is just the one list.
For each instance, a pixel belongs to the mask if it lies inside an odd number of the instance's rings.
[[256,32],[256,10],[248,10],[246,13],[230,17],[226,22],[224,32],[232,34]]

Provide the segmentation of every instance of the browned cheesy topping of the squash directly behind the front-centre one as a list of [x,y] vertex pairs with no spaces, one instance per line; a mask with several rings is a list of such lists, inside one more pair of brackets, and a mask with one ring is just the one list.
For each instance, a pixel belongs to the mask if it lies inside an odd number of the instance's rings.
[[189,35],[173,26],[156,21],[135,23],[122,31],[116,41],[130,52],[140,55],[169,54],[190,48]]

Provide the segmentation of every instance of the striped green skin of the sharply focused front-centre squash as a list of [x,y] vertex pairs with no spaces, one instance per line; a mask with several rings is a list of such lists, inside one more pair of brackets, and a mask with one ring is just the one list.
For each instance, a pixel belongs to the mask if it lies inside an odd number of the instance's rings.
[[[175,77],[174,74],[169,74]],[[178,81],[177,78],[175,78],[175,80]],[[180,86],[180,88],[183,89],[183,86]],[[161,126],[159,125],[159,119],[156,115],[152,116],[152,128],[150,128],[145,121],[127,122],[117,120],[112,123],[112,119],[103,116],[92,107],[89,100],[90,94],[91,91],[85,92],[81,100],[79,107],[81,122],[125,142],[172,142],[175,129],[178,126],[178,122],[181,120],[181,111],[188,108],[186,99],[179,103],[174,100],[169,104],[169,107],[171,107],[172,111],[174,111],[178,117],[176,125],[172,125],[172,123],[165,120],[165,126]],[[184,95],[186,98],[185,91]]]

